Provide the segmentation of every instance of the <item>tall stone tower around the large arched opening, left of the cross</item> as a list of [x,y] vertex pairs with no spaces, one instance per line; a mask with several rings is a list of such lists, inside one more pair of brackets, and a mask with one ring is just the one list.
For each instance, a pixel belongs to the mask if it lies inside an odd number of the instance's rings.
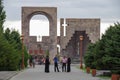
[[27,49],[37,48],[39,43],[36,43],[36,37],[29,36],[29,22],[32,16],[40,14],[44,15],[49,20],[50,36],[44,39],[44,46],[49,50],[50,58],[57,53],[57,8],[56,7],[22,7],[22,34],[24,35],[24,43]]

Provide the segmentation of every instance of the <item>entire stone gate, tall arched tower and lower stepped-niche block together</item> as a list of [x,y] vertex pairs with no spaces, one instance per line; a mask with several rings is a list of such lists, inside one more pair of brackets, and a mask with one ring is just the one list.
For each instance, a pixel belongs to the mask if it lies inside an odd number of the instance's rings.
[[[32,16],[44,15],[49,20],[50,36],[42,36],[42,42],[37,42],[36,36],[29,35],[29,23]],[[66,21],[66,26],[63,26]],[[66,27],[66,28],[64,28]],[[66,32],[64,31],[66,29]],[[65,33],[64,33],[65,32]],[[100,38],[99,18],[67,18],[60,19],[60,36],[57,36],[57,8],[56,7],[22,7],[22,34],[24,43],[32,55],[48,50],[50,59],[58,53],[57,44],[60,45],[60,55],[70,56],[72,60],[80,59],[80,36],[83,36],[83,56],[89,43],[95,43]],[[66,34],[66,35],[64,35]]]

